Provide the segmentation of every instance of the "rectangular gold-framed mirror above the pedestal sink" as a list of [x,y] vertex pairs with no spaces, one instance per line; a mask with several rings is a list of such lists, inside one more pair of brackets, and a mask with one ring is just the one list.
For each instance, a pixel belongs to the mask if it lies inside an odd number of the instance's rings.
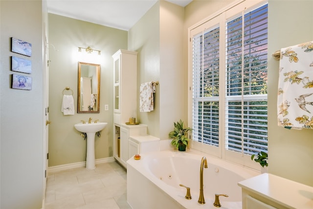
[[100,113],[100,65],[78,62],[77,113]]

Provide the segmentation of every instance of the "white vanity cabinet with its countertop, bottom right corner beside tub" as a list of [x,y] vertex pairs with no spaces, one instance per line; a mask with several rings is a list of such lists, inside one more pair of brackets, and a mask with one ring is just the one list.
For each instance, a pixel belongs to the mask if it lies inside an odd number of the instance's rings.
[[313,209],[313,187],[264,173],[238,183],[243,209]]

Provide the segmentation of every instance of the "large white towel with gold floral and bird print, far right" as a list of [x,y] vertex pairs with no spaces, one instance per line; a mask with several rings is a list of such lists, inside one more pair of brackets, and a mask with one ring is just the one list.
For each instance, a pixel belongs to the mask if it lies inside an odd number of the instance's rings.
[[278,125],[313,129],[313,41],[281,49]]

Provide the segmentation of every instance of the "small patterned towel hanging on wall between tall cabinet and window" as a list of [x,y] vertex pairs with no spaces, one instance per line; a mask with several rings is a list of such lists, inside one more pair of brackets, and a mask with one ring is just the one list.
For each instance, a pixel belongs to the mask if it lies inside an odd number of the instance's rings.
[[139,110],[140,112],[151,112],[154,110],[153,93],[156,92],[156,84],[153,82],[140,85]]

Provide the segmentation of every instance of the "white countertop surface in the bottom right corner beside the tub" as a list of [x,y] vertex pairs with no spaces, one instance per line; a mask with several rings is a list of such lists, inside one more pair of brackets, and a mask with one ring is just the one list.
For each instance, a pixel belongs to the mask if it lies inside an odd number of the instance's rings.
[[313,187],[264,173],[238,183],[242,188],[287,208],[313,209]]

